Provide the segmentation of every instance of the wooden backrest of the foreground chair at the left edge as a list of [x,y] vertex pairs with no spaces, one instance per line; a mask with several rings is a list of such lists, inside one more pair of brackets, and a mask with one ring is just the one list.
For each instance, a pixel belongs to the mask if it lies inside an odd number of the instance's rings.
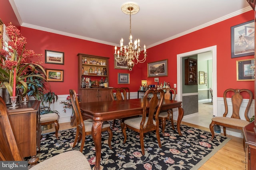
[[6,104],[0,97],[0,160],[23,160],[18,150]]

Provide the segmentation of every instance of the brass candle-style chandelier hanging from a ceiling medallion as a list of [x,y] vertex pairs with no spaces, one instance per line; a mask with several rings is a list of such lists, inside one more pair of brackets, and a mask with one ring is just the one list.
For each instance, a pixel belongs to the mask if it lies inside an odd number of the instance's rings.
[[[144,63],[146,61],[147,53],[146,53],[146,46],[144,45],[144,57],[139,58],[140,56],[140,39],[136,39],[134,43],[132,43],[132,24],[131,24],[131,15],[137,14],[140,10],[138,4],[134,2],[128,2],[122,5],[121,7],[122,12],[124,14],[130,14],[130,37],[129,37],[129,44],[124,45],[124,39],[120,40],[120,49],[117,49],[115,46],[115,53],[114,57],[115,60],[119,64],[126,64],[129,67],[129,70],[132,70],[134,64]],[[116,53],[117,51],[117,53]]]

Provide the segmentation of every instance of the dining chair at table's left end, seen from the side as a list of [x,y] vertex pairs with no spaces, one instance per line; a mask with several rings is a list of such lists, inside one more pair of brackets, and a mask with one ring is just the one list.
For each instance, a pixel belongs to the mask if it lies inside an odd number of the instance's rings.
[[[79,102],[78,102],[78,98],[76,95],[76,91],[70,89],[69,93],[70,93],[70,100],[72,102],[72,106],[73,106],[74,113],[75,113],[74,115],[76,116],[76,137],[75,137],[75,141],[74,141],[72,148],[74,148],[76,146],[76,143],[81,141],[81,139],[82,139],[81,146],[80,146],[80,152],[82,152],[83,148],[84,148],[84,142],[85,142],[86,135],[92,134],[93,123],[92,123],[92,120],[90,120],[90,119],[83,120]],[[108,135],[109,135],[108,146],[110,149],[112,149],[111,140],[112,140],[113,133],[112,133],[112,130],[110,129],[110,124],[107,121],[104,121],[102,123],[102,132],[104,132],[104,131],[108,132]]]

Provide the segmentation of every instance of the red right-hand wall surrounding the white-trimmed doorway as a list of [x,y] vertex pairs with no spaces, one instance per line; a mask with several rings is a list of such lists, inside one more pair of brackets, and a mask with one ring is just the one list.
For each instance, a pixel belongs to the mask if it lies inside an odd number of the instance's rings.
[[[168,81],[173,86],[174,83],[177,83],[178,54],[217,45],[217,96],[223,97],[224,91],[228,88],[245,88],[254,92],[254,81],[236,81],[236,61],[252,59],[254,56],[231,59],[231,27],[253,19],[254,11],[251,10],[152,47],[147,50],[149,56],[147,62],[168,59],[168,77],[159,77],[159,81]],[[142,79],[144,78],[147,78],[146,69],[142,75]],[[147,79],[150,83],[154,82],[154,78]]]

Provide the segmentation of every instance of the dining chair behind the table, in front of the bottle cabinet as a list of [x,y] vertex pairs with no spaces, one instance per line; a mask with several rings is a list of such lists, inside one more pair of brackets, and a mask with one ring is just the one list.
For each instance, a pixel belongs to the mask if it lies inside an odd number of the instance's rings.
[[[127,100],[126,89],[127,88],[112,88],[110,91],[112,100],[113,101],[114,100]],[[128,92],[129,92],[128,95],[129,95],[129,99],[130,99],[130,90]],[[115,123],[116,123],[116,119],[113,120],[112,129],[115,128]]]

